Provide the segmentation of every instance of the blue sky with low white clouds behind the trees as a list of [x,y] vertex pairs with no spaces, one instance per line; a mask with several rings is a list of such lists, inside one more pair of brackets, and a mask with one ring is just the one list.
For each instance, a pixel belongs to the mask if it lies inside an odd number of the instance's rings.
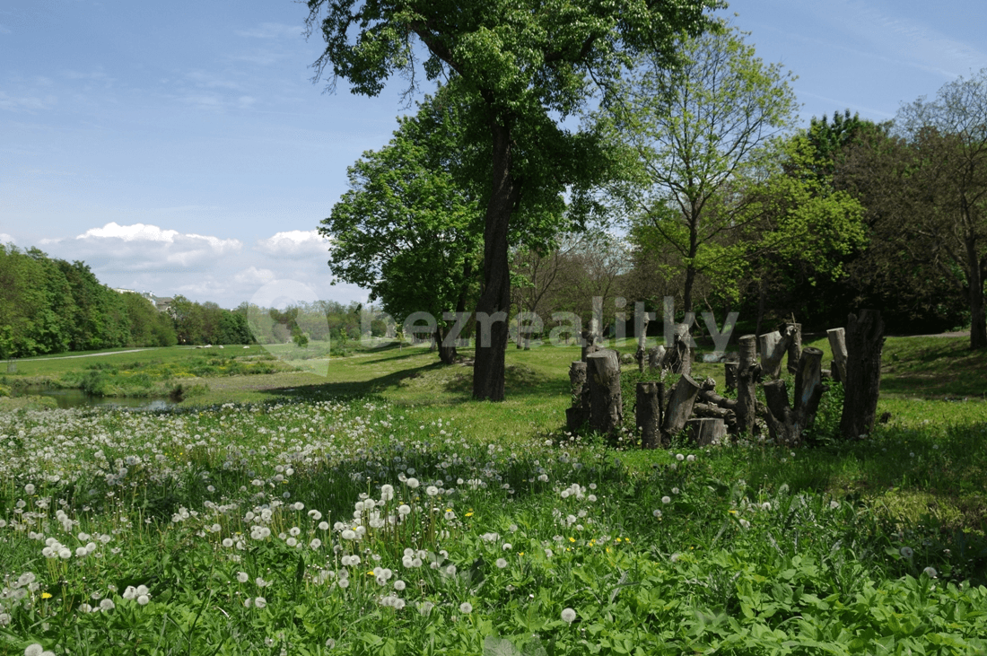
[[[803,125],[844,109],[892,118],[987,68],[982,0],[734,0],[720,13],[797,75]],[[365,302],[332,284],[316,228],[346,167],[414,109],[402,78],[376,98],[313,83],[324,43],[306,16],[292,0],[4,0],[0,242],[227,308],[279,289]]]

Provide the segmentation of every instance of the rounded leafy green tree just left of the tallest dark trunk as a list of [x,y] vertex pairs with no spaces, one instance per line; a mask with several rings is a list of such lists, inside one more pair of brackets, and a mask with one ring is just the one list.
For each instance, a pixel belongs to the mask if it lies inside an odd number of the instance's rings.
[[439,358],[452,364],[447,340],[476,285],[483,213],[468,183],[457,182],[467,145],[446,89],[402,118],[391,141],[349,167],[350,189],[322,222],[337,279],[370,291],[404,323],[415,313],[435,321]]

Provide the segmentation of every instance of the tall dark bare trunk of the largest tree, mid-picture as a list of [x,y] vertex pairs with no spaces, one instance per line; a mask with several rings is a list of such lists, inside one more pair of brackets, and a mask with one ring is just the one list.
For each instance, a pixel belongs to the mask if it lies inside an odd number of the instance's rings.
[[[520,196],[520,184],[511,176],[510,129],[493,116],[491,131],[493,189],[484,227],[484,289],[477,303],[477,346],[473,365],[473,398],[478,401],[503,401],[507,313],[510,310],[507,229],[511,211]],[[486,325],[481,321],[480,313],[488,318]]]

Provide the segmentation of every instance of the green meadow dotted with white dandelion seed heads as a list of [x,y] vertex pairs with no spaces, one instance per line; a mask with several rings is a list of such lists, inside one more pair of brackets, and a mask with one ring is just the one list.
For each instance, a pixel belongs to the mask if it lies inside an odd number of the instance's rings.
[[[0,406],[0,654],[984,653],[987,365],[961,343],[889,338],[891,420],[831,439],[834,389],[796,450],[569,436],[575,349],[508,349],[502,403],[418,348],[325,376],[231,348],[20,362],[3,385],[202,393]],[[229,375],[251,363],[278,370]]]

